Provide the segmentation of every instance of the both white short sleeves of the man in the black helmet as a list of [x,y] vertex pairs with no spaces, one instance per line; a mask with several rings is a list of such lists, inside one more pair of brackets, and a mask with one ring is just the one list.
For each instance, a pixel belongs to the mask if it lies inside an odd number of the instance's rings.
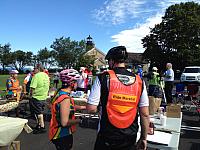
[[[101,84],[100,84],[99,78],[96,77],[87,103],[97,106],[100,102],[100,96],[101,96]],[[139,107],[144,107],[144,106],[149,106],[149,98],[147,95],[146,85],[143,82],[143,91],[140,97]]]

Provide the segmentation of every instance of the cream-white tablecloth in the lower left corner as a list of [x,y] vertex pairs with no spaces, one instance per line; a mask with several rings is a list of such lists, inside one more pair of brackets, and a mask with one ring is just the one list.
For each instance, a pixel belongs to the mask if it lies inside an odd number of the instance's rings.
[[27,119],[0,116],[0,146],[14,141],[27,122]]

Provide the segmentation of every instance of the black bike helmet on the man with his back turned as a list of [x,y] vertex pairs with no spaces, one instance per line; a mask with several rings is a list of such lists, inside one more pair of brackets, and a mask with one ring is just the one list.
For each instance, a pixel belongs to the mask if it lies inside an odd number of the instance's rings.
[[114,61],[125,61],[127,58],[128,53],[125,46],[117,46],[111,48],[105,57],[107,60],[112,59]]

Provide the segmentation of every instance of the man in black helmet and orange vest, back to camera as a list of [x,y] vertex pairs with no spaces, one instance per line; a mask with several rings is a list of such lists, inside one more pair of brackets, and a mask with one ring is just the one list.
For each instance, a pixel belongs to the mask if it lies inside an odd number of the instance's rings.
[[[149,100],[143,80],[125,68],[128,53],[124,46],[111,48],[105,59],[109,69],[98,75],[91,89],[87,110],[99,108],[99,130],[94,150],[147,148]],[[138,142],[138,116],[141,134]]]

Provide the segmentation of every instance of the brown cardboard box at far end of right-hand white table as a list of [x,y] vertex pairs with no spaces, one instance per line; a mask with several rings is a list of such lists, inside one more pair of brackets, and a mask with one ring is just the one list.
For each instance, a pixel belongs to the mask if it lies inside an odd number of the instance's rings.
[[167,117],[180,118],[181,117],[181,106],[176,104],[171,104],[166,108]]

